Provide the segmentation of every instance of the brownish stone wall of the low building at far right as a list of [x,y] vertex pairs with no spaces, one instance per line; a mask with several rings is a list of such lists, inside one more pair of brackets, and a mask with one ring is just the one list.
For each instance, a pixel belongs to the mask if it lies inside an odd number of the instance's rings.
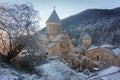
[[111,53],[103,51],[100,48],[88,50],[86,52],[86,56],[92,60],[99,61],[101,63],[101,67],[103,68],[116,65],[115,56]]

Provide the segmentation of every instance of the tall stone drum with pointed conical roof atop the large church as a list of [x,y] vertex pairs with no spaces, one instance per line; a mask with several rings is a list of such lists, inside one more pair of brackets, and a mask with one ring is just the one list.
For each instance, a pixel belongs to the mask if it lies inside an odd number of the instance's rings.
[[46,22],[46,34],[50,41],[55,38],[56,35],[61,33],[61,21],[57,15],[55,8]]

